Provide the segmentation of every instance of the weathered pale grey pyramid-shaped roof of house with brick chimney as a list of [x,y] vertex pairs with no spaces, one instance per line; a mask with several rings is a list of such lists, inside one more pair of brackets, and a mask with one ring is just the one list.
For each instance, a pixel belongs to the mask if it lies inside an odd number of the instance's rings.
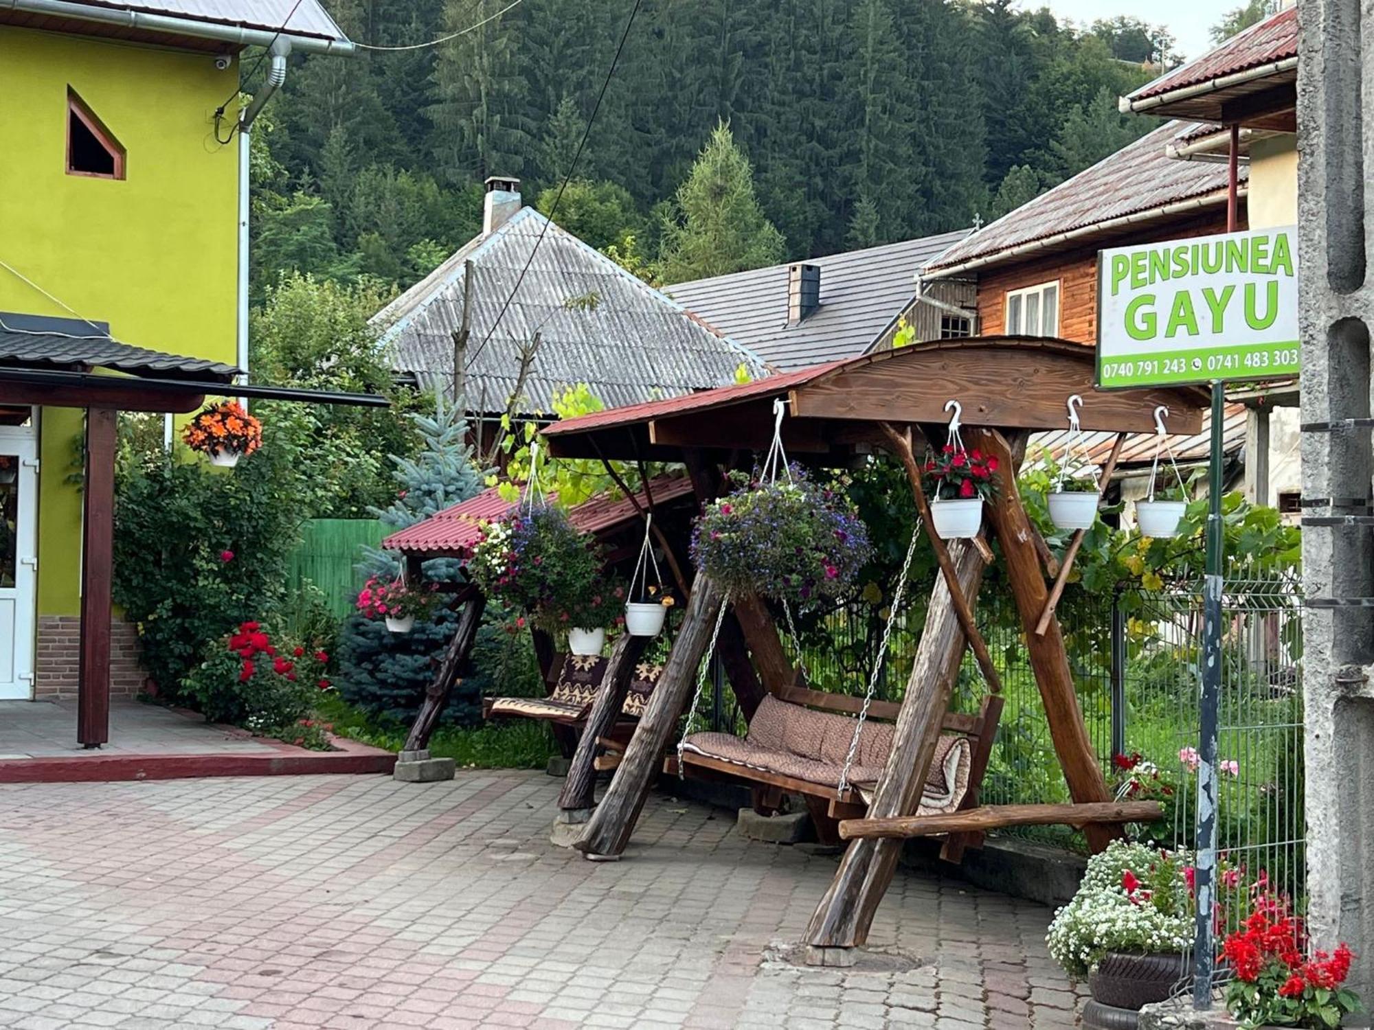
[[[544,225],[544,242],[502,316]],[[515,389],[519,347],[536,332],[543,342],[525,382],[526,411],[551,411],[554,396],[577,383],[587,383],[606,407],[616,408],[732,382],[741,364],[750,375],[767,372],[754,353],[534,209],[523,207],[489,236],[470,240],[375,316],[376,323],[390,323],[383,342],[393,347],[393,365],[414,372],[423,386],[452,385],[452,334],[462,324],[469,260],[474,266],[467,352],[473,408],[504,411]],[[588,294],[596,295],[595,308],[567,308],[569,301]],[[482,346],[492,325],[497,325],[496,334]]]

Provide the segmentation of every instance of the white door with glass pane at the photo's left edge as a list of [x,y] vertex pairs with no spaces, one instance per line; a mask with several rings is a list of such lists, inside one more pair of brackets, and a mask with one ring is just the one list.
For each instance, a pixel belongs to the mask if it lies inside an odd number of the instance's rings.
[[38,463],[29,426],[0,426],[0,700],[33,696]]

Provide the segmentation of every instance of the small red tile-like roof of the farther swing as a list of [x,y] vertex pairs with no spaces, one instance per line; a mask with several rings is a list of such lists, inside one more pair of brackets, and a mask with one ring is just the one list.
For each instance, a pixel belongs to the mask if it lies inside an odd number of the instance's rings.
[[[649,493],[655,505],[688,494],[691,489],[691,481],[684,477],[657,477],[649,481]],[[646,504],[643,492],[635,497],[639,504]],[[492,486],[462,504],[393,533],[382,541],[382,547],[412,555],[466,555],[482,536],[481,523],[502,519],[514,507],[500,496],[499,488]],[[639,512],[628,497],[602,493],[574,507],[567,516],[577,529],[595,534],[636,520]]]

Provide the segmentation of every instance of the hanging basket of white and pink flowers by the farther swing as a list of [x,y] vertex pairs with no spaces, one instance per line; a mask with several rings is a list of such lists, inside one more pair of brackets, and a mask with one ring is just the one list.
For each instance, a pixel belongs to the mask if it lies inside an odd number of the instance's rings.
[[[602,630],[625,596],[602,578],[596,541],[548,504],[482,526],[467,573],[492,600],[548,633]],[[588,644],[589,645],[589,644]],[[600,645],[592,654],[599,654]]]

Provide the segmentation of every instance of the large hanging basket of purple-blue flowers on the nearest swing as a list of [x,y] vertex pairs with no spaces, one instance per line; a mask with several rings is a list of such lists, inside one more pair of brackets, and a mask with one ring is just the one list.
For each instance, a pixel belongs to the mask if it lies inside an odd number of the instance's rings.
[[868,530],[838,489],[785,471],[772,482],[736,475],[697,520],[692,560],[731,593],[800,604],[846,593],[871,553]]

